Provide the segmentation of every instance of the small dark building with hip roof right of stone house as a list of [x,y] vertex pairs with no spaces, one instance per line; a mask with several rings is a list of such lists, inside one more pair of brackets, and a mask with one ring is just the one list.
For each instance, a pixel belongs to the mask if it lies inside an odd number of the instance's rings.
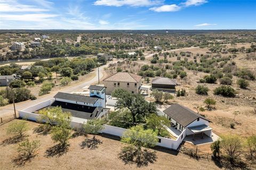
[[164,77],[155,78],[151,82],[151,89],[160,91],[175,91],[176,80]]

